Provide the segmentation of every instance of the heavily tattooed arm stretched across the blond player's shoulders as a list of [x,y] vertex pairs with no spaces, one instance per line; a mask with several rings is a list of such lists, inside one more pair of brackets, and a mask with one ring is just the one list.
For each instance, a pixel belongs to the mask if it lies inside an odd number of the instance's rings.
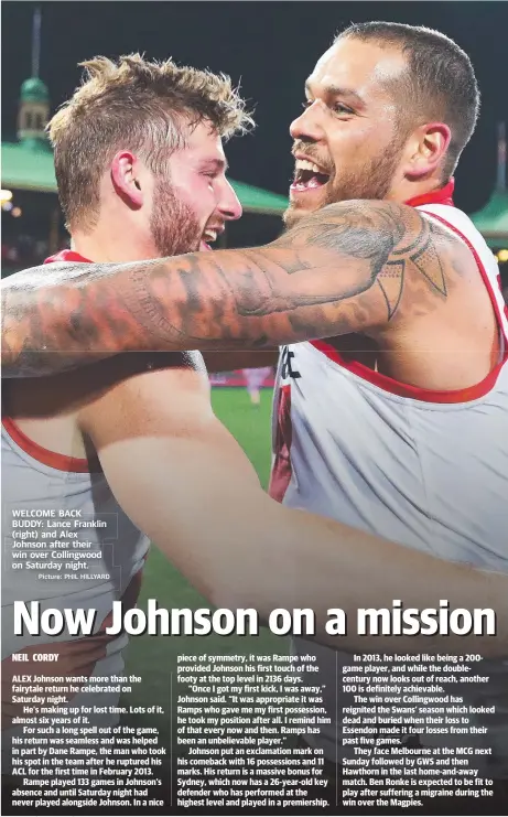
[[412,207],[345,202],[266,247],[26,270],[2,283],[3,374],[375,334],[445,302],[458,244]]

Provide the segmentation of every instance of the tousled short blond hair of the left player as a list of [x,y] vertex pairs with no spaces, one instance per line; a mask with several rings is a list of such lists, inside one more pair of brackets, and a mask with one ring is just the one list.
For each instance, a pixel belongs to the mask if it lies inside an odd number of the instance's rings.
[[253,125],[225,74],[148,62],[140,54],[80,63],[83,83],[47,126],[69,229],[99,215],[99,182],[117,150],[137,151],[154,173],[185,144],[185,125],[207,121],[224,139]]

